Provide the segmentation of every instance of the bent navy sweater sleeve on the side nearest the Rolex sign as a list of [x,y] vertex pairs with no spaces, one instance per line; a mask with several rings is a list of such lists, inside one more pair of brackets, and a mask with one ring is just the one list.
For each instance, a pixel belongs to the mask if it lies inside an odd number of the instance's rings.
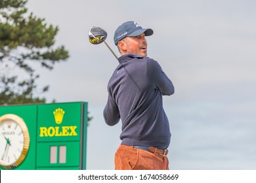
[[108,125],[116,125],[120,120],[119,109],[111,95],[108,95],[108,101],[103,110],[103,116],[106,124]]

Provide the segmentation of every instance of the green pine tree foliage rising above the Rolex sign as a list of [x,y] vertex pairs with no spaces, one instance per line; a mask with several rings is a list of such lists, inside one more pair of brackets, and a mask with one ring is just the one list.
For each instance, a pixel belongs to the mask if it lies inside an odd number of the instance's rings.
[[69,57],[64,46],[54,46],[58,27],[28,13],[26,3],[0,0],[0,105],[45,103],[45,98],[35,96],[39,75],[33,66],[51,70]]

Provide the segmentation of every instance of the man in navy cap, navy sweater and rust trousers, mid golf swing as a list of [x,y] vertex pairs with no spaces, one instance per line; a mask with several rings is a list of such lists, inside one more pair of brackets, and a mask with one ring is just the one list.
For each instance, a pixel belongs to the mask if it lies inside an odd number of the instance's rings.
[[129,21],[117,27],[114,42],[121,54],[119,65],[108,82],[108,101],[104,120],[116,125],[121,119],[121,144],[115,155],[117,170],[167,170],[171,139],[169,122],[163,110],[163,95],[172,95],[174,87],[159,63],[147,57],[146,36]]

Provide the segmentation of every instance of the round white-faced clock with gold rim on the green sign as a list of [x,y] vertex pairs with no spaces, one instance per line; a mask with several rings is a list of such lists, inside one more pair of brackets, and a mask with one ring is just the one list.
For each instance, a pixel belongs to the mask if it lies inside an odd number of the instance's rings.
[[0,117],[0,167],[14,169],[26,158],[30,134],[24,120],[15,114]]

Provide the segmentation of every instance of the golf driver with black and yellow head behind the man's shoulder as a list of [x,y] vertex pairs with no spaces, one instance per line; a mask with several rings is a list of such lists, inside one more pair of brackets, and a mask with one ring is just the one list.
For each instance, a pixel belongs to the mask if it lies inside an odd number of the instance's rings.
[[108,49],[110,49],[110,52],[112,52],[112,54],[118,60],[116,54],[113,52],[113,50],[110,48],[110,46],[108,46],[108,43],[106,43],[106,41],[105,41],[107,35],[108,34],[106,33],[106,31],[104,29],[102,29],[100,27],[93,27],[89,31],[89,41],[91,42],[91,44],[100,44],[100,43],[104,42],[106,44],[106,46],[108,47]]

